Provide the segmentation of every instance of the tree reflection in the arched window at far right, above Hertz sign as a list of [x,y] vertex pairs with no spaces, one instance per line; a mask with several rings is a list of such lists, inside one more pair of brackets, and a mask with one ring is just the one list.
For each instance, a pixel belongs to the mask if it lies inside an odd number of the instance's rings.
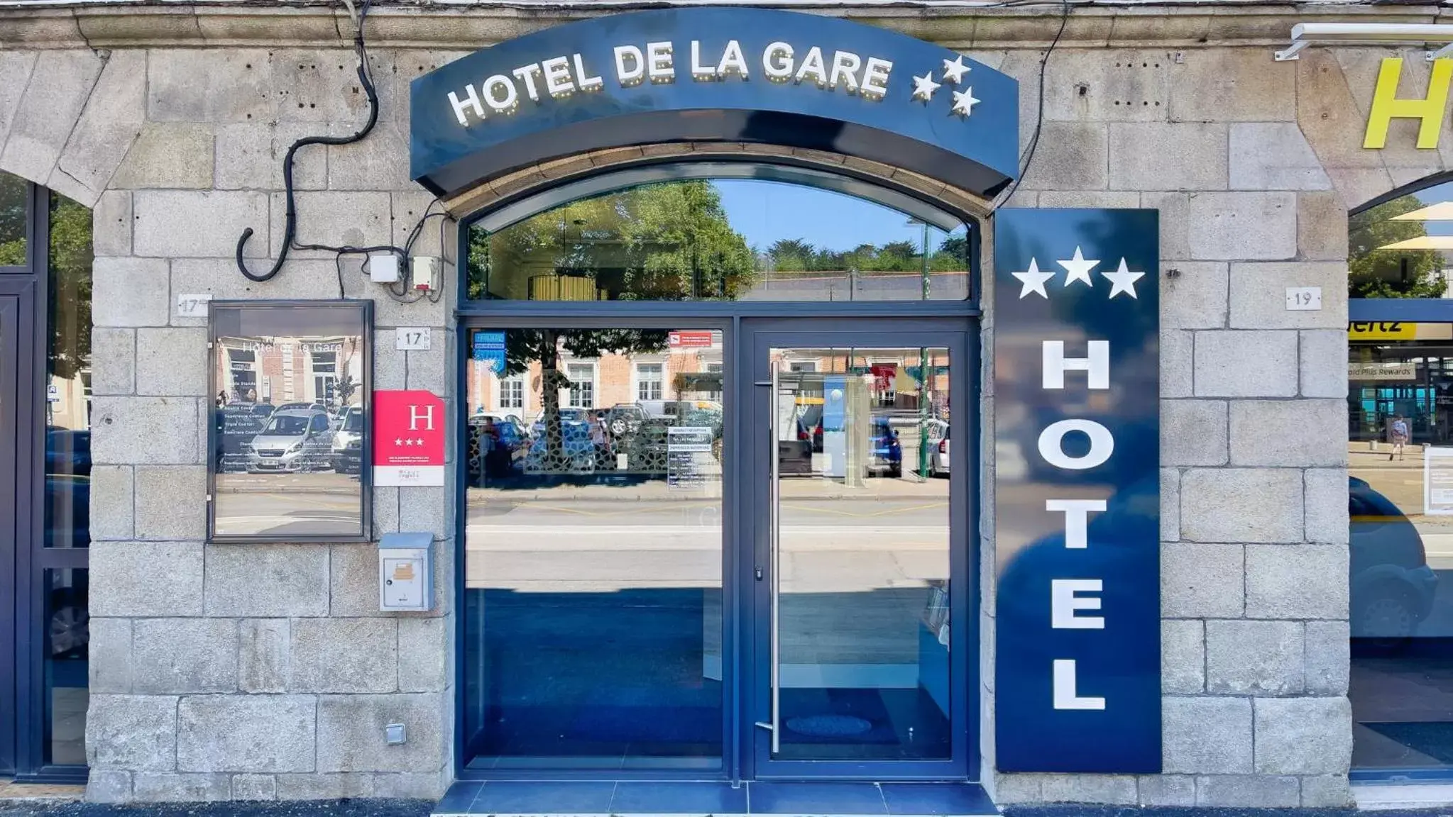
[[1422,238],[1421,221],[1393,216],[1421,209],[1422,202],[1399,196],[1366,209],[1347,225],[1347,293],[1351,297],[1440,297],[1446,282],[1443,254],[1436,250],[1379,250],[1388,244]]

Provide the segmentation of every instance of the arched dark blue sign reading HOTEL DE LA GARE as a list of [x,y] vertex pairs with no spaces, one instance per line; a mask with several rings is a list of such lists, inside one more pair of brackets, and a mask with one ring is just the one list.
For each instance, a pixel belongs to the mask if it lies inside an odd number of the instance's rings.
[[450,196],[588,149],[792,145],[992,194],[1017,176],[1019,86],[885,29],[770,9],[692,7],[555,26],[414,80],[410,165]]

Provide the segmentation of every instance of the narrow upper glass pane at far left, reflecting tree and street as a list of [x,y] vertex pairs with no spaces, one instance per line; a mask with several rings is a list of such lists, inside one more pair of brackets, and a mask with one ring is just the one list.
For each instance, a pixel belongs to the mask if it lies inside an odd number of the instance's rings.
[[92,212],[51,193],[45,547],[90,546]]

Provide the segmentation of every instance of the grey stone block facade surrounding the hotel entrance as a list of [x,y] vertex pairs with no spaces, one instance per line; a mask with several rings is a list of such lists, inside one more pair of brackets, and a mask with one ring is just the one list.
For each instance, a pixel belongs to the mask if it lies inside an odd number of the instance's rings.
[[[1159,210],[1164,773],[995,773],[985,670],[984,781],[1000,802],[1343,805],[1345,215],[1449,170],[1453,148],[1414,149],[1404,120],[1388,149],[1361,148],[1377,61],[1395,51],[1311,48],[1274,62],[1261,35],[1284,39],[1295,12],[1276,15],[1276,26],[1231,12],[1218,36],[1203,35],[1206,13],[1167,10],[1164,25],[1136,26],[1154,13],[1072,17],[1013,203]],[[330,255],[294,253],[266,283],[246,280],[231,257],[247,228],[254,270],[278,253],[286,147],[362,120],[349,22],[321,9],[170,15],[155,25],[174,17],[235,45],[125,28],[103,12],[0,10],[0,170],[94,208],[87,797],[437,797],[455,752],[452,489],[379,488],[373,498],[376,534],[436,534],[442,573],[427,614],[378,612],[371,546],[203,546],[203,321],[171,306],[179,293],[340,295]],[[972,12],[905,15],[867,22],[1016,75],[1027,142],[1043,41],[1058,20],[985,10],[968,36]],[[385,9],[378,20],[379,126],[356,145],[299,152],[299,241],[401,241],[432,200],[407,173],[408,81],[539,25],[453,7]],[[1237,35],[1237,20],[1255,30]],[[414,49],[445,23],[446,48]],[[1023,36],[1005,33],[1010,23]],[[1097,39],[1112,25],[1135,33]],[[1421,96],[1425,64],[1404,57],[1399,91]],[[376,387],[449,398],[449,342],[401,353],[388,341],[402,325],[449,338],[453,280],[450,271],[440,303],[400,305],[344,274],[343,295],[378,302]],[[1286,286],[1321,286],[1324,308],[1287,312]],[[992,315],[984,329],[988,350]],[[991,393],[984,419],[989,475]],[[991,502],[985,495],[981,514],[985,621]],[[994,627],[981,633],[992,668]],[[407,724],[408,743],[386,746],[386,723]]]

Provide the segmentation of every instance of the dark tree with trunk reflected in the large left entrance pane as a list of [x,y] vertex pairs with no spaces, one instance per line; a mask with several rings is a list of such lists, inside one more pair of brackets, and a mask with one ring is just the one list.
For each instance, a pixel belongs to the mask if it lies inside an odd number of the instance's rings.
[[654,354],[667,345],[665,329],[507,329],[504,332],[504,369],[501,379],[541,364],[541,402],[545,408],[545,461],[562,450],[559,390],[570,377],[559,367],[559,353],[574,357],[606,354]]

